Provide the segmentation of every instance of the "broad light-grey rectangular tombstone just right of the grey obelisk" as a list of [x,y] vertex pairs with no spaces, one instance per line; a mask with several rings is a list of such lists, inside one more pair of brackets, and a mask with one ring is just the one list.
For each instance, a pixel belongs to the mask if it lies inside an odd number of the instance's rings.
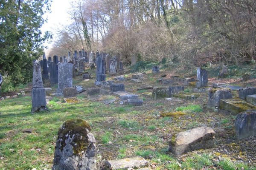
[[63,94],[64,88],[73,86],[73,64],[61,63],[58,66],[58,88],[57,93]]

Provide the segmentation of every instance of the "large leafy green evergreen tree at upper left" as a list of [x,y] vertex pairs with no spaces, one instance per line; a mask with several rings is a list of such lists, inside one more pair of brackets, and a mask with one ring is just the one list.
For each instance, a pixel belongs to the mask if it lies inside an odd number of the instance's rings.
[[42,15],[50,0],[0,0],[0,72],[17,86],[32,77],[32,60],[43,54]]

